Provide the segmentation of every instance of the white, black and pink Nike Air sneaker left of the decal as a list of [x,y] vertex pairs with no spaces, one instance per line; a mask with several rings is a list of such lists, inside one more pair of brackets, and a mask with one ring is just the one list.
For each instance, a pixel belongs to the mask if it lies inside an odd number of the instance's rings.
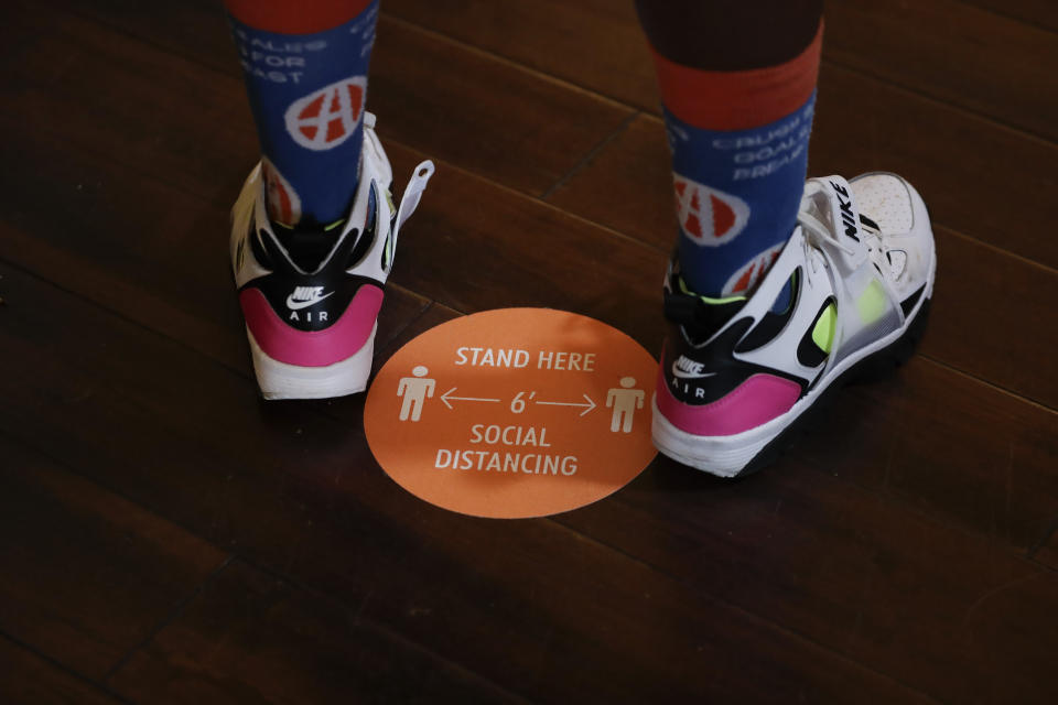
[[360,181],[344,220],[312,231],[272,224],[260,164],[231,208],[231,265],[266,399],[342,397],[367,386],[397,235],[433,163],[415,167],[397,207],[375,116],[364,122]]

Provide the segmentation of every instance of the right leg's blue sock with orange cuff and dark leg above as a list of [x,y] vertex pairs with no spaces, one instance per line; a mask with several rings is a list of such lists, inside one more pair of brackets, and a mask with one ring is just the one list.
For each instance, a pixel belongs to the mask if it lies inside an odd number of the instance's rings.
[[[822,42],[818,3],[741,4],[753,8],[637,2],[672,149],[680,270],[710,297],[749,292],[794,231]],[[757,21],[731,17],[746,12]],[[712,36],[689,31],[703,22]]]

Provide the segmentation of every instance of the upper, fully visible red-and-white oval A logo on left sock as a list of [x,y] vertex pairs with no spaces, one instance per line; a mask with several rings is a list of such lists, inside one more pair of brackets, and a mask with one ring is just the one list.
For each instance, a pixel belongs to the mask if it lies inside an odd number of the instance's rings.
[[364,115],[367,78],[353,76],[293,101],[283,119],[287,132],[310,150],[330,150],[349,137]]

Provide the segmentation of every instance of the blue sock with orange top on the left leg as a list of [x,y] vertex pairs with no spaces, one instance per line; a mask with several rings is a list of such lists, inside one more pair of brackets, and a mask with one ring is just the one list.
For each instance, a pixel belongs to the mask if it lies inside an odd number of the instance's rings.
[[225,0],[261,143],[269,217],[346,216],[364,140],[378,0]]

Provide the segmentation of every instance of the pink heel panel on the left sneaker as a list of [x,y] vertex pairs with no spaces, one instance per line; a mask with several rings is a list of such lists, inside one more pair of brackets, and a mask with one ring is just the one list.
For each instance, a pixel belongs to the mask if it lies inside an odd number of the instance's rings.
[[367,343],[382,307],[382,290],[361,285],[342,317],[323,330],[290,327],[258,289],[244,289],[239,304],[247,327],[268,357],[288,365],[326,367],[353,357]]

